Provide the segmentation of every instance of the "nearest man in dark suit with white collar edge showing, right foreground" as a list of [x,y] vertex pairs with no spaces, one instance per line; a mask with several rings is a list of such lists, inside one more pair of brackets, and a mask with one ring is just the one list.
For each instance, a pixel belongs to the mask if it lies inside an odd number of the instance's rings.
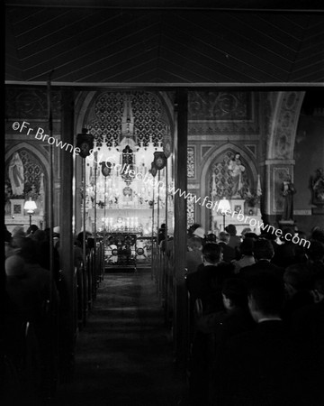
[[220,358],[218,406],[320,406],[305,352],[280,317],[283,304],[284,283],[273,274],[249,280],[248,307],[257,327],[232,337]]

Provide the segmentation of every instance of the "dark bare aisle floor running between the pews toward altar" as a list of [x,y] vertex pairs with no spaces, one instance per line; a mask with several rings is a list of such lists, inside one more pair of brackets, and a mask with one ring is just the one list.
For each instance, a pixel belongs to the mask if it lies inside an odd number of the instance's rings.
[[150,270],[106,272],[77,337],[73,382],[49,406],[175,406],[186,392]]

